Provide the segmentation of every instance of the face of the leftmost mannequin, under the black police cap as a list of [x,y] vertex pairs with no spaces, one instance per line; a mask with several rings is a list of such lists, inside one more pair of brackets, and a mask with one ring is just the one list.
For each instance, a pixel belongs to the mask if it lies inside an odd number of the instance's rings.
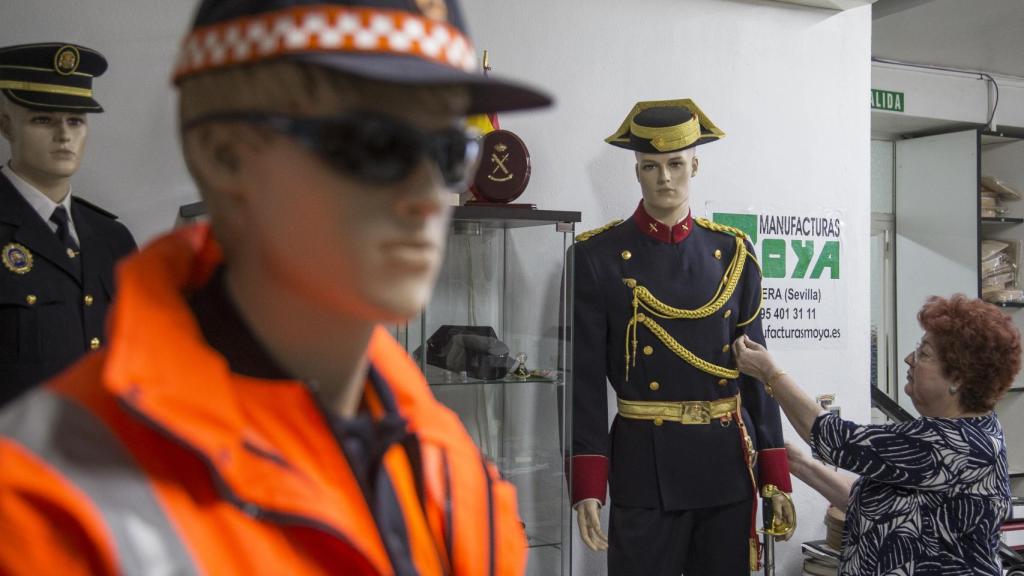
[[10,143],[10,167],[36,186],[78,171],[89,126],[84,114],[38,112],[4,102],[0,128]]

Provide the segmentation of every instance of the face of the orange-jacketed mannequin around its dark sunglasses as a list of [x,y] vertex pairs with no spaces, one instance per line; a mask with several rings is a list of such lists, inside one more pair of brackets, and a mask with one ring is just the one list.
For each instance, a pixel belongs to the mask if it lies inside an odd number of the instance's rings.
[[[461,108],[418,106],[411,92],[377,94],[357,106],[327,102],[309,115],[370,110],[428,131],[463,120]],[[452,192],[437,166],[421,159],[401,181],[370,184],[289,136],[259,137],[257,146],[238,147],[242,192],[229,210],[243,231],[236,253],[261,279],[326,314],[396,322],[419,313],[429,301],[447,236]]]

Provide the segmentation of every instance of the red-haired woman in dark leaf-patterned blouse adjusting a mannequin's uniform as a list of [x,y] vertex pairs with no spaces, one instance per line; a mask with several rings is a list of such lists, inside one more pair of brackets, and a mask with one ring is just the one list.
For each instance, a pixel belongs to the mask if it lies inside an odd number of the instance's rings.
[[933,296],[907,355],[906,394],[921,418],[860,425],[824,412],[765,348],[734,345],[797,433],[833,470],[790,448],[790,469],[847,512],[841,575],[1001,574],[998,528],[1010,506],[1002,428],[992,408],[1020,368],[1020,334],[998,308]]

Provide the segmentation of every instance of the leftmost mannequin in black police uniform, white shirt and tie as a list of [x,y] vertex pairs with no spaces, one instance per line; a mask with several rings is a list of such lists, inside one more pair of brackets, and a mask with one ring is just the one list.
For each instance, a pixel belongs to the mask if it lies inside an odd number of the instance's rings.
[[102,112],[98,52],[60,43],[0,48],[0,404],[103,341],[114,264],[135,249],[116,217],[71,194]]

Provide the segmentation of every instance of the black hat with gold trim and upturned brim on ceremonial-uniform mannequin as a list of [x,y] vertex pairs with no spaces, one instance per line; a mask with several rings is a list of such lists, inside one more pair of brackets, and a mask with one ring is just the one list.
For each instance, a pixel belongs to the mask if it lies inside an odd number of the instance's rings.
[[667,154],[715,141],[725,132],[691,99],[637,102],[604,141],[646,154]]

